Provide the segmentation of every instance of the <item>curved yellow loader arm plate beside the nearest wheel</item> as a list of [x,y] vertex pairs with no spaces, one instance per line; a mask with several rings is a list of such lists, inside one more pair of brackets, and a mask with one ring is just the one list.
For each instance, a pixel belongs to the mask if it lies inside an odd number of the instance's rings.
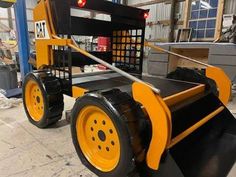
[[157,170],[171,138],[171,113],[162,98],[155,95],[148,86],[135,82],[132,93],[134,100],[144,106],[151,120],[152,138],[146,160],[148,167]]

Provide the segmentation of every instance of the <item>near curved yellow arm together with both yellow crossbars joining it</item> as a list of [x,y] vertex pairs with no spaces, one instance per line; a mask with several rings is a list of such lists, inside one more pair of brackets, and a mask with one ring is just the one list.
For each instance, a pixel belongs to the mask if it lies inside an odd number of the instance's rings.
[[199,85],[195,89],[188,90],[190,93],[183,92],[173,97],[167,97],[168,99],[165,101],[165,99],[163,100],[159,95],[154,94],[148,86],[142,83],[135,82],[132,85],[133,98],[144,107],[152,125],[152,138],[146,157],[149,168],[158,170],[161,156],[166,149],[173,147],[224,109],[221,106],[174,139],[171,139],[172,120],[168,106],[186,99],[186,95],[193,96],[201,93],[204,88],[204,85]]

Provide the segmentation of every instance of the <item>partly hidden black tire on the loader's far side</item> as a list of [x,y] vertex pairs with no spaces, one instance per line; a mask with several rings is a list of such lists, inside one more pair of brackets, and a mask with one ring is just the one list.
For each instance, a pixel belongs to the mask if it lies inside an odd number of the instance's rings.
[[206,77],[205,72],[201,70],[178,67],[175,71],[169,73],[167,78],[205,84],[207,90],[216,96],[219,95],[215,81]]

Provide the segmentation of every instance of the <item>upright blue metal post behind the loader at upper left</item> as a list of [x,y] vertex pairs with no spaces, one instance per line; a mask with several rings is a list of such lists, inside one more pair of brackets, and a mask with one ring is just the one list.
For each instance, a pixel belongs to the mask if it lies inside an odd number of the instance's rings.
[[17,0],[16,4],[14,5],[14,10],[18,36],[20,71],[21,77],[22,79],[24,79],[24,76],[32,71],[32,67],[28,63],[30,56],[30,47],[25,0]]

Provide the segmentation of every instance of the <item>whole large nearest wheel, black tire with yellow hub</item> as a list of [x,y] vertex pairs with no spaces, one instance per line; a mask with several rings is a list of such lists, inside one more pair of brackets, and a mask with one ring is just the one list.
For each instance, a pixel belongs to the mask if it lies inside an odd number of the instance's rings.
[[143,149],[137,105],[118,90],[88,94],[72,110],[71,132],[82,163],[98,176],[127,176]]

